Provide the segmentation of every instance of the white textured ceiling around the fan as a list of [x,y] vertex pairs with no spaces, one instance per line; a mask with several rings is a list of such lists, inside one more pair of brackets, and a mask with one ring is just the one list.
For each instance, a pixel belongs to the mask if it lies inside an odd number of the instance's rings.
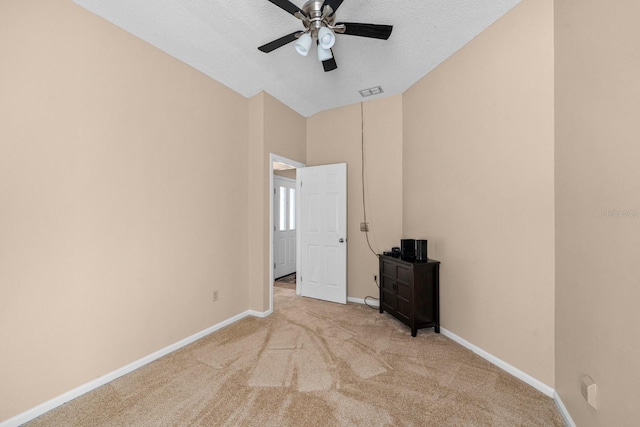
[[[305,0],[291,0],[302,7]],[[337,35],[338,69],[325,73],[315,51],[293,43],[257,48],[302,30],[267,0],[74,0],[169,55],[249,98],[265,91],[308,117],[404,92],[520,0],[345,0],[337,21],[391,24],[389,40]]]

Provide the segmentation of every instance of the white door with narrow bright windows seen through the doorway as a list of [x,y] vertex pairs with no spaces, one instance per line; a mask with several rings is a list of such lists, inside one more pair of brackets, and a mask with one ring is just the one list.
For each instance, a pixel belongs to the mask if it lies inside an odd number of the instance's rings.
[[296,181],[273,177],[273,277],[296,271]]

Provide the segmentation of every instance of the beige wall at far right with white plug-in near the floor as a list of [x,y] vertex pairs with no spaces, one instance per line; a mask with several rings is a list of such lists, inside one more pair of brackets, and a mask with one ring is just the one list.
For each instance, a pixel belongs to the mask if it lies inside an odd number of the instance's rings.
[[639,16],[635,0],[555,5],[556,387],[580,427],[640,420]]

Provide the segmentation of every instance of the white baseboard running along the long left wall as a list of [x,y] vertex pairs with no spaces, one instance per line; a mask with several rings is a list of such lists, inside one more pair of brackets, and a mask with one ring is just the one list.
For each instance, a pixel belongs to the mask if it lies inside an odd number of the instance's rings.
[[58,397],[54,397],[51,400],[48,400],[34,408],[29,409],[28,411],[25,411],[21,414],[18,414],[12,418],[9,418],[8,420],[2,421],[0,422],[0,427],[17,427],[21,424],[26,423],[27,421],[31,421],[34,418],[39,417],[40,415],[44,414],[45,412],[49,412],[52,409],[57,408],[60,405],[63,405],[65,403],[67,403],[70,400],[73,400],[77,397],[82,396],[85,393],[88,393],[92,390],[97,389],[98,387],[101,387],[123,375],[126,375],[130,372],[135,371],[138,368],[141,368],[142,366],[153,362],[154,360],[157,360],[159,358],[161,358],[162,356],[166,356],[167,354],[174,352],[186,345],[189,345],[197,340],[199,340],[200,338],[203,338],[207,335],[209,335],[212,332],[215,332],[219,329],[224,328],[225,326],[228,326],[232,323],[237,322],[240,319],[243,319],[247,316],[256,316],[256,317],[265,317],[268,315],[268,312],[265,313],[260,313],[257,311],[252,311],[252,310],[247,310],[243,313],[240,313],[236,316],[233,316],[227,320],[224,320],[218,324],[215,324],[203,331],[200,331],[196,334],[191,335],[190,337],[187,337],[183,340],[178,341],[175,344],[171,344],[161,350],[156,351],[155,353],[152,353],[148,356],[143,357],[142,359],[136,360],[135,362],[132,362],[120,369],[116,369],[113,372],[110,372],[106,375],[101,376],[100,378],[97,378],[93,381],[90,381],[86,384],[83,384],[79,387],[74,388],[73,390],[70,390],[64,394],[61,394]]

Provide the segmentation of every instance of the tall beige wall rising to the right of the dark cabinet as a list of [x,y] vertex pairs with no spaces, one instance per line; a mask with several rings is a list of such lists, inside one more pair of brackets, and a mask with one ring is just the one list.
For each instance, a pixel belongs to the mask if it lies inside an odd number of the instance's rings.
[[403,99],[403,235],[442,262],[442,326],[553,387],[553,1],[524,0]]

